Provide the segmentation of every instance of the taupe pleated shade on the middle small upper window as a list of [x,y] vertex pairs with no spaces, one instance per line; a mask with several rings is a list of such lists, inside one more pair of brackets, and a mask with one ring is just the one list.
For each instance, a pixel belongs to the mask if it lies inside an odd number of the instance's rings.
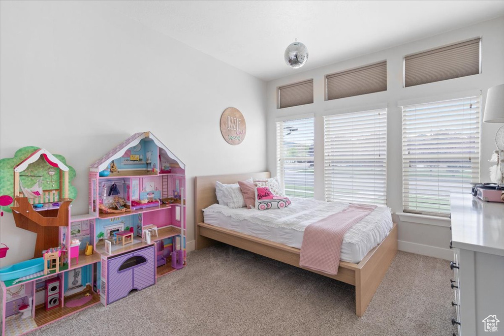
[[387,61],[326,76],[326,100],[387,91]]

